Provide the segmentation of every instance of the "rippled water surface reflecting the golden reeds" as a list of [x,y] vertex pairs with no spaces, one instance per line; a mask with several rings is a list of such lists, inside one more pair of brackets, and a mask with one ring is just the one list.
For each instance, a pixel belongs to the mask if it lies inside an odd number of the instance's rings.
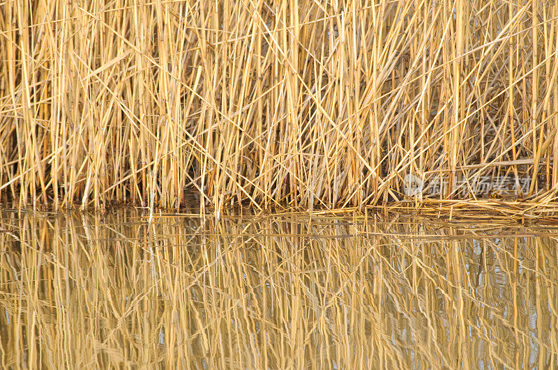
[[146,219],[1,213],[2,367],[558,366],[556,227]]

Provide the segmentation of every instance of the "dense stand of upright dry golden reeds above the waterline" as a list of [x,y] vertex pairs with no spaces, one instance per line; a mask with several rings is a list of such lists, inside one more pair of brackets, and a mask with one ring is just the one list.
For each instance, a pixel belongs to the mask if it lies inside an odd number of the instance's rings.
[[[482,7],[481,7],[482,6]],[[0,196],[343,207],[556,198],[555,1],[3,1]],[[459,186],[459,185],[464,185]]]

